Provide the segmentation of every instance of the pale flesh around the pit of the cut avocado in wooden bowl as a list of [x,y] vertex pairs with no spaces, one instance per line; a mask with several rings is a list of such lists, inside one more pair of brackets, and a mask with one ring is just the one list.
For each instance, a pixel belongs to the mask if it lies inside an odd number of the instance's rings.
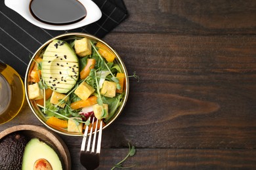
[[22,170],[33,169],[38,164],[37,162],[42,160],[49,163],[48,165],[52,169],[62,169],[62,163],[53,148],[43,141],[33,138],[25,147]]

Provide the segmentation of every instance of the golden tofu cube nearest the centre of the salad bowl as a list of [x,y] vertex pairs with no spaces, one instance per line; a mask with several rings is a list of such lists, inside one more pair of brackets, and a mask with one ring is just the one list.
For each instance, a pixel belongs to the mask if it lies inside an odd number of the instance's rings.
[[87,84],[87,82],[82,82],[79,86],[75,89],[75,94],[82,100],[87,100],[90,95],[95,92],[95,89]]

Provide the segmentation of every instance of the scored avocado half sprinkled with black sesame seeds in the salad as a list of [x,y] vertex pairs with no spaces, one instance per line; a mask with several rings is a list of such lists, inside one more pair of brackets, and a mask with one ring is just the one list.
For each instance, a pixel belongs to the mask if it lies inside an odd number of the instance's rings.
[[43,54],[42,78],[58,93],[70,91],[79,78],[79,60],[65,41],[53,40]]

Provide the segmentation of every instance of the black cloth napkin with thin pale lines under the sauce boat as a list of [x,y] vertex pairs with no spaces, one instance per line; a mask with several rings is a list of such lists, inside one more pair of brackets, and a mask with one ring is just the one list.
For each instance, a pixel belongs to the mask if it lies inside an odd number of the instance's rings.
[[125,18],[127,9],[123,0],[92,0],[102,11],[95,23],[70,30],[49,30],[37,27],[0,1],[0,62],[11,65],[22,77],[31,57],[49,39],[70,32],[82,32],[103,38]]

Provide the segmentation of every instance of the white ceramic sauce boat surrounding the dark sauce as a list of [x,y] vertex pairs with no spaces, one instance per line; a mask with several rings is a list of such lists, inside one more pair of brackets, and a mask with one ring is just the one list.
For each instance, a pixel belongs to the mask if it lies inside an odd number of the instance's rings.
[[79,2],[87,10],[87,16],[79,22],[67,25],[51,25],[40,22],[39,20],[35,19],[30,12],[30,0],[5,0],[5,5],[10,9],[18,12],[18,14],[23,16],[26,20],[28,20],[28,22],[37,25],[38,27],[52,30],[68,30],[75,29],[77,27],[83,27],[85,25],[96,22],[102,16],[100,9],[93,1],[79,0]]

